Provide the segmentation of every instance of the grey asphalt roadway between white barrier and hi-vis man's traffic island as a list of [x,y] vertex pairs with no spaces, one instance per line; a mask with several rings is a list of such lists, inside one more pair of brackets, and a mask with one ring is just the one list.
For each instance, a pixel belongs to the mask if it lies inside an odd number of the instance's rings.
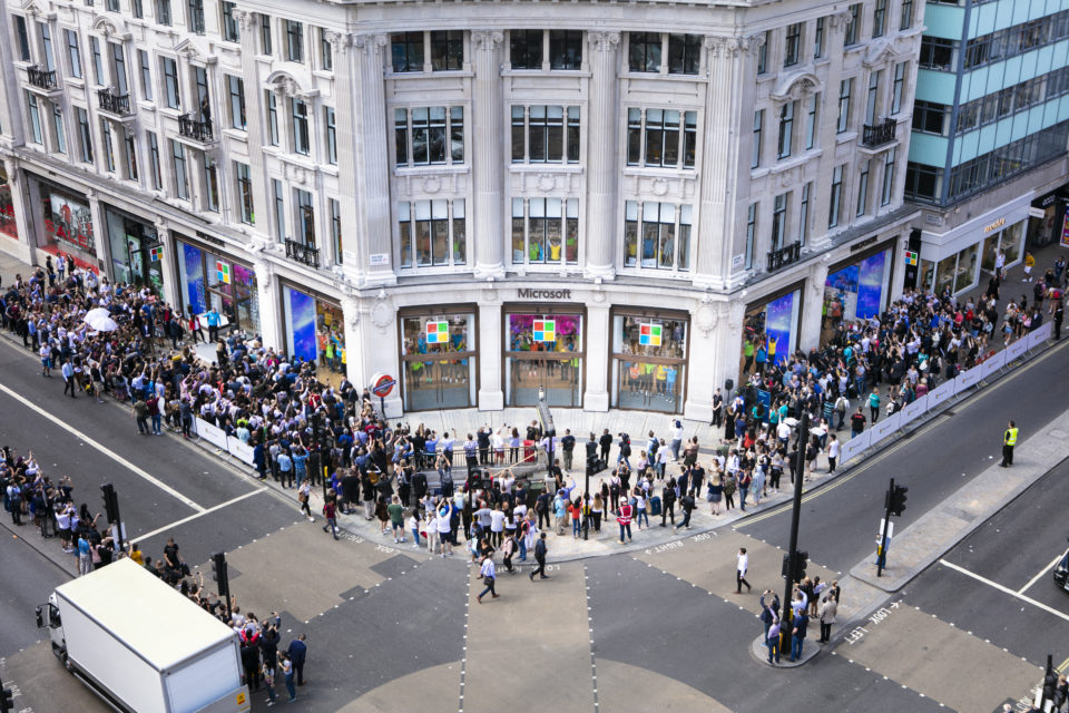
[[[890,449],[815,492],[806,494],[798,530],[800,549],[831,569],[847,572],[867,557],[883,517],[887,482],[909,488],[906,510],[895,518],[902,530],[1001,458],[1002,431],[1014,419],[1021,440],[1066,410],[1060,388],[1069,350],[1060,345],[1019,367],[978,395],[951,408]],[[844,431],[845,432],[845,431]],[[739,522],[739,531],[784,549],[791,506]],[[1053,555],[1051,555],[1053,557]]]

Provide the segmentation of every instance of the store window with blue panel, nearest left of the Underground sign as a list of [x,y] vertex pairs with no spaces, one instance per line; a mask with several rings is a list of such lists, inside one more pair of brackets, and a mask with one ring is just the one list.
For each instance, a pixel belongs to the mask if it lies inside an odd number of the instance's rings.
[[284,286],[286,353],[316,364],[316,379],[337,385],[345,377],[345,321],[342,307]]

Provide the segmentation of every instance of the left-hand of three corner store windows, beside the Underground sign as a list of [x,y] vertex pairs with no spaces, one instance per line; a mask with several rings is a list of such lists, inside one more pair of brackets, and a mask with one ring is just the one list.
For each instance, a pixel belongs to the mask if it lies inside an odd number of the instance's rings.
[[475,404],[475,313],[401,314],[401,395],[405,411]]

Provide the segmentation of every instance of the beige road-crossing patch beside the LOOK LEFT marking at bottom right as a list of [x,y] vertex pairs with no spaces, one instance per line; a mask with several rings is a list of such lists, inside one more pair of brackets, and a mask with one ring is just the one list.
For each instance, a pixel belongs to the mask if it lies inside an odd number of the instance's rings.
[[955,711],[994,711],[1042,670],[919,608],[891,603],[846,634],[835,653]]

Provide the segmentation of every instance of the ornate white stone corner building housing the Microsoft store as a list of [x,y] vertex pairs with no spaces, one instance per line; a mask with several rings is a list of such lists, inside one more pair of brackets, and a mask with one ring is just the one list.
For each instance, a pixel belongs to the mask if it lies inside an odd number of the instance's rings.
[[901,290],[913,0],[0,2],[0,247],[391,414],[707,419],[747,341]]

